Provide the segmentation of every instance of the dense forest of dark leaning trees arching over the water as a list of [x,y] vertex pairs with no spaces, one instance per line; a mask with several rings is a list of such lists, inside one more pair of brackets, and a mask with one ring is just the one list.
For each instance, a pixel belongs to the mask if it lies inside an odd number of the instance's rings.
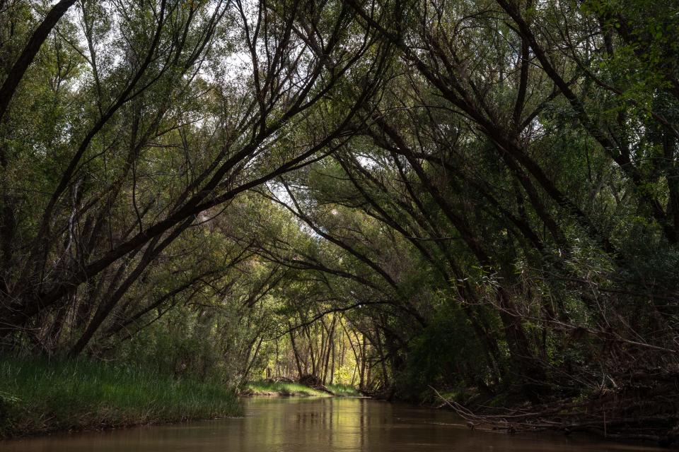
[[0,83],[4,378],[679,441],[675,2],[0,0]]

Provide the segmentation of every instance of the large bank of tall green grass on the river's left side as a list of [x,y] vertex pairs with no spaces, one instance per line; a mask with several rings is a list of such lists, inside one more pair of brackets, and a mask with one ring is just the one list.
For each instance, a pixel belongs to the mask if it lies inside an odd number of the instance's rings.
[[233,390],[85,361],[0,358],[0,438],[240,414]]

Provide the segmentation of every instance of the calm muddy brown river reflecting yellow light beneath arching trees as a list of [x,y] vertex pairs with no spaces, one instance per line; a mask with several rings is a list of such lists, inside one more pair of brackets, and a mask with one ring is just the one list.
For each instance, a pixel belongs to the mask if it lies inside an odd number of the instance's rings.
[[2,452],[663,451],[472,431],[453,413],[365,398],[246,398],[245,417],[0,441]]

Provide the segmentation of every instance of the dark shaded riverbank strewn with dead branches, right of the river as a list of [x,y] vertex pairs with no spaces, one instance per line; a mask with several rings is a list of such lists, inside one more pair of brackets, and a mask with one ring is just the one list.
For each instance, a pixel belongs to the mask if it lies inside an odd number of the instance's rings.
[[507,393],[490,397],[467,391],[439,392],[430,386],[438,402],[429,405],[452,410],[476,430],[511,434],[581,433],[607,441],[677,448],[676,383],[647,386],[642,392],[637,381],[639,386],[632,388],[620,385],[615,390],[577,397],[545,398],[542,403],[532,405],[516,400],[512,403]]

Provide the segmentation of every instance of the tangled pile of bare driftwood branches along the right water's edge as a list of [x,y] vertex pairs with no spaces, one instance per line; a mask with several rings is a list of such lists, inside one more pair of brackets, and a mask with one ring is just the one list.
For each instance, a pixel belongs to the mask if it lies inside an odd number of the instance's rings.
[[[553,400],[518,408],[465,407],[431,388],[471,429],[507,433],[588,432],[606,439],[679,444],[679,379],[677,374],[637,374],[615,390],[600,391],[579,400]],[[644,383],[644,380],[647,383]]]

